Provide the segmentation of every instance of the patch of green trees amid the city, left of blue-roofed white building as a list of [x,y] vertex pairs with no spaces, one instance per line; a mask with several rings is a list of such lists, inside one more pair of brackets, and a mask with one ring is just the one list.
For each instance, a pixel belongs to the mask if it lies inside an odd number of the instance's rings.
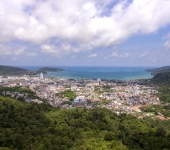
[[60,92],[60,93],[56,94],[56,96],[59,98],[67,97],[70,101],[73,101],[76,98],[76,94],[71,90],[66,90],[66,91]]

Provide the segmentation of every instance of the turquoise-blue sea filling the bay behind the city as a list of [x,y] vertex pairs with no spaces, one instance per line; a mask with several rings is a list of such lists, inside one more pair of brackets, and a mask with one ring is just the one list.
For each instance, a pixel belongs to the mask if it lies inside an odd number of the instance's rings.
[[24,69],[38,70],[42,67],[60,68],[61,72],[48,72],[44,74],[49,78],[64,79],[104,79],[104,80],[135,80],[150,79],[153,76],[146,69],[155,67],[101,67],[101,66],[18,66]]

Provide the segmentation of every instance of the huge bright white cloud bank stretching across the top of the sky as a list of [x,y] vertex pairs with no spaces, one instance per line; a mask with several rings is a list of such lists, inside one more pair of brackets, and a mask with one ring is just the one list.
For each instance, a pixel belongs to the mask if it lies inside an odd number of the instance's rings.
[[[111,46],[170,23],[170,1],[125,0],[109,8],[113,1],[0,1],[0,41],[19,39],[61,55]],[[61,46],[46,44],[51,38],[60,39]]]

